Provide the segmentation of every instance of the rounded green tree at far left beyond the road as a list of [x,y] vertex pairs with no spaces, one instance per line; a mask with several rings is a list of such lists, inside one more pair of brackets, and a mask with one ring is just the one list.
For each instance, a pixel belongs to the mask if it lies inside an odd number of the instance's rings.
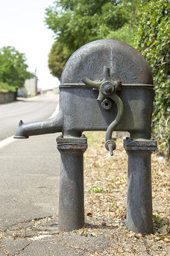
[[25,54],[21,54],[14,47],[7,46],[0,49],[0,82],[1,89],[15,91],[22,87],[25,80],[32,78],[32,73],[26,71]]

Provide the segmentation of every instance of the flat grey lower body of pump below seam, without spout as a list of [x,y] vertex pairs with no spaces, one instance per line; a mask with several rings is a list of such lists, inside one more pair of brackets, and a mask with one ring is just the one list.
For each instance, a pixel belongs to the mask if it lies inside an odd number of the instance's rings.
[[[99,92],[85,86],[60,88],[60,111],[64,116],[62,133],[80,137],[83,131],[106,131],[117,116],[117,105],[106,110],[97,101]],[[122,87],[117,92],[124,105],[123,119],[115,131],[129,131],[133,139],[150,139],[150,123],[153,108],[153,87]]]

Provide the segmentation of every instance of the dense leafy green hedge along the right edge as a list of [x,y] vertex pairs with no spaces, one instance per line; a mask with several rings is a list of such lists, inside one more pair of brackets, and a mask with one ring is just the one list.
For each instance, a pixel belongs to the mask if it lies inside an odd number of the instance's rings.
[[170,2],[153,0],[142,5],[135,37],[136,48],[148,61],[154,77],[152,128],[160,150],[170,152]]

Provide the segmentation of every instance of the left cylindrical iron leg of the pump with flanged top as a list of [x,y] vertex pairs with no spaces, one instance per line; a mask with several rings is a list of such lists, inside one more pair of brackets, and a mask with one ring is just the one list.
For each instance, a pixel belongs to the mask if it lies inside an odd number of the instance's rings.
[[84,225],[83,153],[87,138],[57,138],[61,154],[59,183],[59,231],[72,231]]

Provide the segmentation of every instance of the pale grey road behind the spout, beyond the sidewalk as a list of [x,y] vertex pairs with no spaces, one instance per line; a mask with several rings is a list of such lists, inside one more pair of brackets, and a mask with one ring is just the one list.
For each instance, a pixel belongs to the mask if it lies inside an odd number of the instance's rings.
[[0,105],[0,141],[13,136],[19,120],[24,123],[47,119],[55,111],[59,95],[47,93]]

